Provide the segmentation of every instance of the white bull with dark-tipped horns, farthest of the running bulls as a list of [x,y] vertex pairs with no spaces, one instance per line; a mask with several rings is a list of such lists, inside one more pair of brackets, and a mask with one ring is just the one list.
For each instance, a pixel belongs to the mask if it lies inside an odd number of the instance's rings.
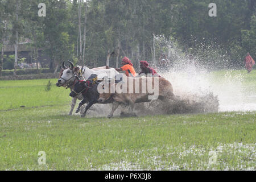
[[[74,65],[71,61],[68,61],[68,62],[71,65],[69,68],[65,67],[64,61],[63,61],[63,67],[61,68],[62,72],[60,74],[59,80],[56,83],[56,86],[59,86],[59,87],[67,86],[68,88],[70,88],[72,90],[73,85],[76,81],[75,74],[79,73],[80,71],[82,73],[81,78],[85,79],[85,80],[88,79],[89,76],[92,74],[96,74],[98,77],[98,80],[100,80],[104,77],[114,78],[115,76],[117,76],[119,74],[114,68],[106,69],[106,67],[98,67],[98,68],[90,69],[88,67],[81,67],[81,66],[74,67]],[[71,110],[69,111],[69,115],[72,115],[72,113],[73,113],[73,109],[76,105],[77,98],[79,100],[83,99],[81,94],[72,98]]]

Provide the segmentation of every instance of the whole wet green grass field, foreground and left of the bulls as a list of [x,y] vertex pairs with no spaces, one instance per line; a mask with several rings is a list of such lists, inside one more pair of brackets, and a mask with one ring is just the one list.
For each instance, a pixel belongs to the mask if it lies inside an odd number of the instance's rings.
[[0,170],[256,169],[256,111],[80,118],[67,115],[69,90],[47,82],[0,81]]

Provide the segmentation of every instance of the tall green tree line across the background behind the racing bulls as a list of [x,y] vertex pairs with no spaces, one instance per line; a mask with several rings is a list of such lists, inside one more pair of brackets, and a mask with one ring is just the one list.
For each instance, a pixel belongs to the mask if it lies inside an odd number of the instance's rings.
[[[105,65],[113,50],[115,56],[109,62],[113,67],[118,67],[123,56],[135,67],[139,60],[157,65],[161,53],[179,61],[164,40],[200,57],[202,63],[214,66],[225,61],[224,67],[242,67],[246,52],[256,56],[256,2],[214,0],[217,16],[210,17],[211,2],[0,0],[0,74],[7,43],[15,46],[16,74],[18,42],[24,38],[32,40],[33,59],[38,60],[38,49],[43,48],[55,72],[67,60],[89,67]],[[46,16],[38,15],[39,3],[46,5]],[[220,55],[225,58],[220,60]]]

